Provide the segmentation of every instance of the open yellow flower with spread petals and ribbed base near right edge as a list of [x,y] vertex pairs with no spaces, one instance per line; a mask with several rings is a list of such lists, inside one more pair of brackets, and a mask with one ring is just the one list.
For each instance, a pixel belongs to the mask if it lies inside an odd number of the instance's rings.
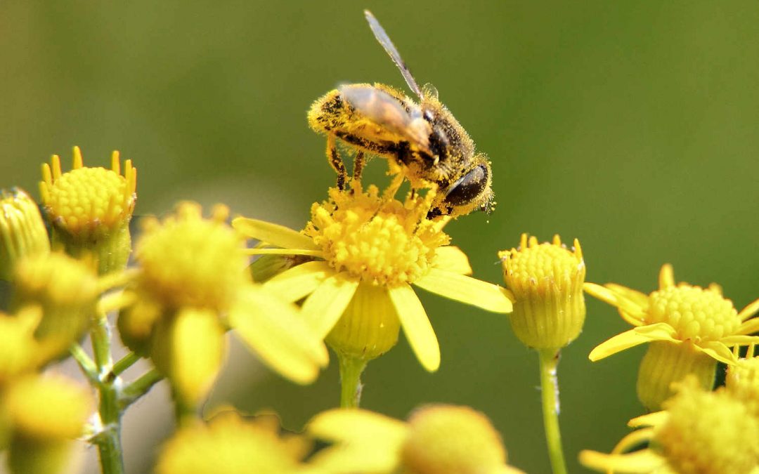
[[616,306],[622,319],[634,325],[610,338],[590,354],[593,361],[650,342],[638,372],[638,398],[649,410],[660,410],[672,394],[670,385],[693,374],[701,387],[714,383],[716,361],[735,363],[729,347],[751,344],[759,337],[759,300],[737,312],[716,284],[708,288],[675,284],[671,265],[663,265],[659,289],[646,295],[618,284],[586,283],[585,291]]

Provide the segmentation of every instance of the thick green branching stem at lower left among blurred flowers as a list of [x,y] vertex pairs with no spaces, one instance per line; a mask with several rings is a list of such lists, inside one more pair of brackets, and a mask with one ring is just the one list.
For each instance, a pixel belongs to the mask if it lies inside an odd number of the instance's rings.
[[121,449],[121,410],[118,407],[118,391],[115,386],[116,377],[112,374],[113,359],[111,356],[111,334],[108,328],[108,317],[101,313],[90,331],[93,343],[95,366],[100,392],[99,414],[102,422],[102,432],[93,438],[100,455],[100,468],[103,474],[123,474],[124,460]]

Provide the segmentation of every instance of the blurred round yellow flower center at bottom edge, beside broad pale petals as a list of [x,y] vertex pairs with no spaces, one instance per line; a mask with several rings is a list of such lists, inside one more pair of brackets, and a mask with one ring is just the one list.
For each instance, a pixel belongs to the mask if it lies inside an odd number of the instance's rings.
[[506,462],[490,420],[469,407],[433,406],[411,416],[402,463],[412,474],[496,472]]

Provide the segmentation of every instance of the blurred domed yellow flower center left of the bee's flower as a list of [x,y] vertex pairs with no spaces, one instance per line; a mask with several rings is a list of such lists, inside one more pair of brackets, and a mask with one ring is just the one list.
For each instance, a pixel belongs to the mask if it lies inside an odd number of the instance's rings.
[[249,280],[243,240],[218,206],[203,219],[200,206],[184,202],[176,215],[145,223],[135,257],[143,269],[140,290],[172,309],[228,309]]

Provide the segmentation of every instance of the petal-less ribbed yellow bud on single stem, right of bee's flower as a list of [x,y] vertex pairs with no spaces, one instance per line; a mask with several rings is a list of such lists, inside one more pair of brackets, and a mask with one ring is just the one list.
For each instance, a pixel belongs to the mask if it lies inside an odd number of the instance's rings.
[[503,278],[514,294],[509,317],[514,333],[528,347],[560,349],[575,340],[585,321],[585,262],[580,242],[572,251],[559,236],[552,243],[521,235],[518,249],[499,253]]

